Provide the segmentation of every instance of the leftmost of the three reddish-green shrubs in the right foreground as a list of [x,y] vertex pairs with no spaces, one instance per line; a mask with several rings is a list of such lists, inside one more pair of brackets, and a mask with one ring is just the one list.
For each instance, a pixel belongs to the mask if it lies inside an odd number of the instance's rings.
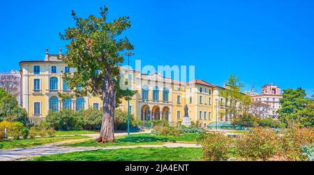
[[197,142],[202,146],[205,161],[223,161],[228,159],[227,153],[230,151],[231,139],[223,135],[223,133],[204,133],[200,135]]

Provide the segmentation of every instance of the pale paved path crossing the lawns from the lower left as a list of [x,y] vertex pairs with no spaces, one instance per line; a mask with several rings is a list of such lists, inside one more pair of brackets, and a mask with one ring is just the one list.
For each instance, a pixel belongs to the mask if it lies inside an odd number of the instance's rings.
[[[132,133],[134,134],[140,134],[140,133],[150,133],[150,131],[146,132],[136,132]],[[127,135],[127,133],[117,133],[115,136],[123,136]],[[90,137],[98,137],[99,135],[89,135]],[[88,138],[91,139],[91,138]],[[14,161],[14,160],[25,160],[28,158],[40,156],[40,155],[51,155],[51,154],[57,154],[57,153],[71,153],[71,152],[77,152],[77,151],[91,151],[91,150],[98,150],[98,149],[133,149],[137,147],[168,147],[168,148],[174,148],[174,147],[198,147],[196,144],[180,144],[180,143],[165,143],[163,145],[134,145],[134,146],[106,146],[106,147],[70,147],[70,146],[59,146],[61,144],[67,144],[71,142],[82,142],[87,139],[76,139],[76,140],[68,140],[68,141],[62,141],[62,142],[55,142],[52,144],[45,144],[42,146],[35,146],[31,148],[26,149],[10,149],[10,150],[3,150],[0,151],[0,161]]]

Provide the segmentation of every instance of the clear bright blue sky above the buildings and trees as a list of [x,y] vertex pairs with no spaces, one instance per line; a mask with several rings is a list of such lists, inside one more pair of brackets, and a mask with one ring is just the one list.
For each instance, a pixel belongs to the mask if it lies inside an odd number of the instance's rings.
[[110,8],[128,15],[133,59],[150,65],[195,65],[196,78],[223,85],[232,73],[250,89],[273,82],[314,90],[314,1],[0,1],[1,69],[57,53],[58,33],[73,25],[71,10],[87,17]]

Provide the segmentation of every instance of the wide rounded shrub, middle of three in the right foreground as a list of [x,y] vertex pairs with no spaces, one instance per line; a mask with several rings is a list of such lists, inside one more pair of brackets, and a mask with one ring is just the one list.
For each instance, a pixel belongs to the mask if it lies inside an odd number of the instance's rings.
[[237,139],[235,151],[246,160],[267,160],[278,151],[278,135],[264,128],[253,128]]

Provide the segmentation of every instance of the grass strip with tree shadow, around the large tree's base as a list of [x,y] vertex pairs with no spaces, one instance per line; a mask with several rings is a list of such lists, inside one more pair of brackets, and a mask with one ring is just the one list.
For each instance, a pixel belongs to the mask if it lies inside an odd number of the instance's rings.
[[[154,144],[161,145],[164,142],[177,142],[177,143],[196,143],[196,133],[184,133],[179,137],[175,136],[156,136],[152,134],[137,134],[123,137],[116,137],[115,143],[99,144],[94,140],[88,140],[85,142],[75,144],[65,144],[66,146],[131,146],[131,145],[143,145]],[[64,145],[63,145],[64,146]]]

